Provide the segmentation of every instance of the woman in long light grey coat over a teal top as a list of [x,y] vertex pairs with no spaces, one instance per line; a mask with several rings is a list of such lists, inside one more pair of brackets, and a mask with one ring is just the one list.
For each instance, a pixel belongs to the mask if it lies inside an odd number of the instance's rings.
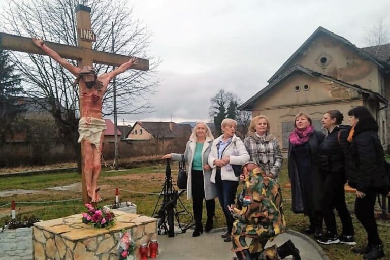
[[[195,219],[195,231],[193,237],[203,233],[202,212],[203,198],[206,199],[207,221],[205,231],[213,228],[213,217],[215,215],[215,185],[210,182],[211,167],[207,159],[213,142],[213,135],[210,128],[203,122],[197,122],[187,142],[184,152],[184,159],[188,162],[187,176],[187,199],[192,196],[192,208]],[[182,155],[171,153],[164,155],[163,159],[181,160]]]

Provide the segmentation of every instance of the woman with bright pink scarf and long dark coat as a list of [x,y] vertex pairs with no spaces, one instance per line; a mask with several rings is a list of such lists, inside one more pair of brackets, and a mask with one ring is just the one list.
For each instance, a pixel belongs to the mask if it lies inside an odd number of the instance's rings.
[[295,129],[289,136],[288,176],[291,182],[293,212],[309,217],[308,234],[322,236],[322,182],[317,167],[317,150],[324,134],[316,131],[311,117],[299,113],[295,117]]

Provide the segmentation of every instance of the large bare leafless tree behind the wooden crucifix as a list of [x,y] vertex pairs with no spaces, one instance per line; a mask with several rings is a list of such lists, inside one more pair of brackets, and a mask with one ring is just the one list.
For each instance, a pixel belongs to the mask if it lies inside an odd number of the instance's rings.
[[[142,22],[133,19],[127,0],[11,0],[2,12],[0,26],[11,34],[43,37],[46,41],[77,46],[75,8],[79,4],[92,8],[91,26],[98,36],[92,44],[94,50],[110,52],[114,42],[115,53],[151,60],[150,70],[127,71],[116,78],[118,114],[148,111],[151,105],[145,95],[159,84],[156,68],[160,61],[148,55],[152,34]],[[12,60],[22,73],[24,94],[38,103],[43,99],[49,102],[50,107],[43,108],[54,116],[62,140],[72,143],[78,154],[79,92],[78,86],[73,84],[74,77],[49,57],[13,53]],[[76,66],[76,61],[70,62]],[[113,68],[95,64],[95,69],[99,74]],[[103,98],[104,115],[113,113],[112,100],[110,85]]]

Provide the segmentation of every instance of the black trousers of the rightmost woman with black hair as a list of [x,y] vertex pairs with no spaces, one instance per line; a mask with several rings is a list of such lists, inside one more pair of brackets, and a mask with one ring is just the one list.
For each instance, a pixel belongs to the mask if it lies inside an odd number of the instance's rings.
[[356,197],[355,200],[355,215],[362,223],[367,232],[367,240],[369,245],[380,245],[382,241],[379,238],[378,227],[374,218],[374,206],[377,193],[369,190],[363,198]]

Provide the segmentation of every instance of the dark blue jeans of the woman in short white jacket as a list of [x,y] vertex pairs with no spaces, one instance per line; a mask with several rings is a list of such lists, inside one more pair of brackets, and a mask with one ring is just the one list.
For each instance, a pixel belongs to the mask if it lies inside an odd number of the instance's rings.
[[228,226],[228,232],[230,234],[232,233],[234,219],[228,209],[228,206],[234,204],[238,181],[223,181],[221,179],[221,169],[217,168],[215,175],[215,186],[217,188],[219,204],[221,205],[223,214],[225,215],[226,225]]

